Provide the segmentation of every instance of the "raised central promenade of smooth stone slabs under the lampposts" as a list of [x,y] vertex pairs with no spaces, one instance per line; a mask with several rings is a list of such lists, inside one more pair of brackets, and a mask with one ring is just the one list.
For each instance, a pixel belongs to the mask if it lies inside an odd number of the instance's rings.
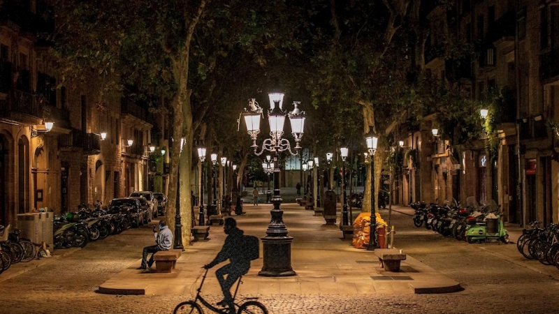
[[[257,209],[246,207],[247,215],[235,216],[238,227],[245,234],[263,237],[270,209],[272,206],[267,204]],[[402,261],[399,273],[384,271],[373,251],[358,250],[350,240],[342,239],[339,226],[326,225],[323,217],[312,216],[297,204],[282,204],[282,209],[289,236],[294,238],[291,266],[297,275],[258,276],[262,267],[260,257],[242,278],[242,294],[431,294],[462,290],[460,283],[409,255]],[[99,292],[170,295],[195,291],[203,274],[201,267],[217,255],[225,237],[222,226],[212,226],[208,240],[187,246],[172,273],[143,273],[136,269],[141,261],[137,260],[100,285]],[[214,271],[222,265],[208,272],[204,294],[221,294]],[[379,277],[387,280],[378,280]]]

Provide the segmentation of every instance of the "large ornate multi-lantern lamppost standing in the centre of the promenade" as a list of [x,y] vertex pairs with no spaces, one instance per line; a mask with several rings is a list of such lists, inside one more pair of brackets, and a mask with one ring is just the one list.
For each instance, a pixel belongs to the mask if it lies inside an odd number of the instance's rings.
[[[292,112],[287,113],[282,109],[283,93],[270,93],[270,110],[268,110],[268,123],[270,125],[270,138],[262,143],[261,151],[258,151],[256,144],[256,136],[260,133],[260,116],[262,115],[262,108],[256,103],[254,98],[249,100],[249,107],[245,108],[245,113],[242,116],[245,118],[247,125],[247,133],[252,139],[252,148],[256,156],[261,156],[264,151],[275,152],[274,160],[274,196],[272,202],[274,208],[270,211],[272,219],[266,230],[266,237],[262,239],[263,245],[263,266],[259,272],[259,276],[295,276],[296,273],[291,268],[291,242],[292,237],[287,236],[287,228],[283,221],[283,211],[279,209],[282,203],[282,197],[279,195],[279,152],[287,151],[292,156],[298,154],[301,148],[299,142],[303,137],[303,128],[305,126],[305,112],[301,112],[298,108],[300,102],[294,101],[294,109]],[[289,116],[291,121],[291,134],[293,135],[296,146],[295,153],[291,151],[291,144],[289,140],[283,137],[284,135],[284,122],[285,117]]]

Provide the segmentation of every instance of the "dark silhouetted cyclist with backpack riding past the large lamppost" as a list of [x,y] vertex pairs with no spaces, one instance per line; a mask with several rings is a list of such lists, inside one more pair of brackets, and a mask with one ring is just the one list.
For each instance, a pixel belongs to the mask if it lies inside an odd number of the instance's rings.
[[[215,265],[229,260],[229,264],[217,269],[215,275],[217,281],[222,287],[224,299],[217,303],[218,306],[228,306],[233,309],[233,297],[231,296],[231,287],[240,276],[247,274],[250,269],[251,257],[247,251],[251,251],[252,247],[245,241],[245,232],[237,227],[237,221],[232,217],[225,218],[223,230],[227,237],[223,244],[222,251],[217,253],[212,262],[205,264],[203,268],[210,269]],[[258,241],[256,241],[256,250],[258,250]]]

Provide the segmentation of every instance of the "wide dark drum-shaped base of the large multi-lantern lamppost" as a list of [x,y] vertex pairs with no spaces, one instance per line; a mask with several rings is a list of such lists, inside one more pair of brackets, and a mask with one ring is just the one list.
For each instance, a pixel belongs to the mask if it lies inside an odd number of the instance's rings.
[[296,276],[291,268],[292,237],[262,237],[263,266],[259,276],[287,277]]

